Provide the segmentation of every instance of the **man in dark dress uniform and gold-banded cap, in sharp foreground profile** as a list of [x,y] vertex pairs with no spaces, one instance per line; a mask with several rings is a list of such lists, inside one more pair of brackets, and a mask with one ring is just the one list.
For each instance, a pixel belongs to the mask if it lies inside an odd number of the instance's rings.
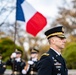
[[38,63],[38,75],[68,75],[61,50],[65,47],[66,38],[62,26],[57,26],[45,32],[50,49],[44,53]]

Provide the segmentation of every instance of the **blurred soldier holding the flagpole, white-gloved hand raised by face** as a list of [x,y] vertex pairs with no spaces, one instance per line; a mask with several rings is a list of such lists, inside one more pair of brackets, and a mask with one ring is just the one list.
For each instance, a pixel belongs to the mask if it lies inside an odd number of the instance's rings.
[[22,70],[25,67],[25,61],[21,58],[21,52],[16,51],[12,53],[10,59],[6,63],[12,67],[11,75],[23,75]]

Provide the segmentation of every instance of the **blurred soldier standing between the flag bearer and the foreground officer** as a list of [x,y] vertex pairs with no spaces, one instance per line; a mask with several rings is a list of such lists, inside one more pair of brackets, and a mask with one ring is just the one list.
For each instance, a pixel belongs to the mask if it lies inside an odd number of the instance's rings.
[[38,62],[38,53],[39,50],[36,48],[30,49],[31,58],[28,61],[27,65],[24,68],[25,75],[37,75],[37,67],[36,64]]

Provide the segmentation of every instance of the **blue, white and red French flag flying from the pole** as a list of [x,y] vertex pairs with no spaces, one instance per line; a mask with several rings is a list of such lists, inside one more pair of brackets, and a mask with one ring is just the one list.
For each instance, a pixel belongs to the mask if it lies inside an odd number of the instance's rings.
[[26,23],[26,31],[33,36],[36,36],[47,24],[46,18],[26,0],[17,0],[16,20]]

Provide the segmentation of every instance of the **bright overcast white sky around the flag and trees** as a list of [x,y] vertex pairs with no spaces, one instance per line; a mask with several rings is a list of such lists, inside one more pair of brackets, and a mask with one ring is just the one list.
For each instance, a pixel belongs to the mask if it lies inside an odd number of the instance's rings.
[[[9,2],[8,2],[9,1]],[[27,0],[37,11],[42,13],[46,18],[48,17],[48,28],[49,24],[52,20],[56,17],[58,13],[58,7],[64,4],[64,0]],[[69,1],[69,0],[67,0]],[[16,0],[4,0],[3,3],[0,3],[1,6],[15,6]],[[1,9],[1,8],[0,8]],[[6,16],[9,15],[9,12],[3,13],[2,16],[0,15],[0,23],[4,21]],[[14,23],[15,22],[15,9],[13,12],[8,16],[5,22]],[[24,25],[25,26],[25,25]],[[23,27],[25,28],[25,27]]]

